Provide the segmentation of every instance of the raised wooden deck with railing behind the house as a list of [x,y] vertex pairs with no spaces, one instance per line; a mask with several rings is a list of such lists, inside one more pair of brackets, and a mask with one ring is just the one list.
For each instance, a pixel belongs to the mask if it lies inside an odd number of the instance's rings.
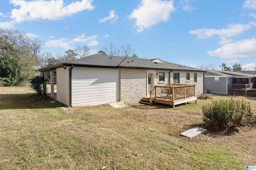
[[[154,86],[150,90],[149,104],[154,103],[172,105],[196,101],[196,85],[166,84],[166,86]],[[144,98],[145,99],[145,98]]]

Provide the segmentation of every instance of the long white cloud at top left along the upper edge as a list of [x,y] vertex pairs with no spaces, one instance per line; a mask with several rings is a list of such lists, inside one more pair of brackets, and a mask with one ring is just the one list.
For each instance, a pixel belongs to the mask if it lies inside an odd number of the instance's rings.
[[65,16],[72,16],[83,10],[93,10],[92,0],[76,1],[64,6],[63,0],[10,0],[19,9],[13,9],[11,18],[16,22],[33,21],[38,19],[58,20]]

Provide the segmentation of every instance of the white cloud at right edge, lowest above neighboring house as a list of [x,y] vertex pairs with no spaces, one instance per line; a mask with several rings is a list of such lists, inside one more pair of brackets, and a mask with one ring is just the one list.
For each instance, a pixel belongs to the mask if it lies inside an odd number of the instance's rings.
[[225,59],[256,58],[256,39],[244,39],[235,43],[222,45],[214,51],[207,51],[210,56]]

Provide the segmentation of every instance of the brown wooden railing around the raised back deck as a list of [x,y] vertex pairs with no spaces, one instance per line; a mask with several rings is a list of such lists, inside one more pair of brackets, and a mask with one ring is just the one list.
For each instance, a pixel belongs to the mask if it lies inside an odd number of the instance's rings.
[[156,98],[172,101],[196,96],[196,85],[166,84],[166,86],[154,86],[150,90],[150,104]]

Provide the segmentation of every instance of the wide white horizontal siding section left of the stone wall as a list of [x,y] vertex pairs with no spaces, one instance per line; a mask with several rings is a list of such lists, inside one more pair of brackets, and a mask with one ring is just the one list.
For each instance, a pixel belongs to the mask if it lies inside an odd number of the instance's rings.
[[89,106],[119,101],[119,70],[110,68],[72,69],[72,106]]

